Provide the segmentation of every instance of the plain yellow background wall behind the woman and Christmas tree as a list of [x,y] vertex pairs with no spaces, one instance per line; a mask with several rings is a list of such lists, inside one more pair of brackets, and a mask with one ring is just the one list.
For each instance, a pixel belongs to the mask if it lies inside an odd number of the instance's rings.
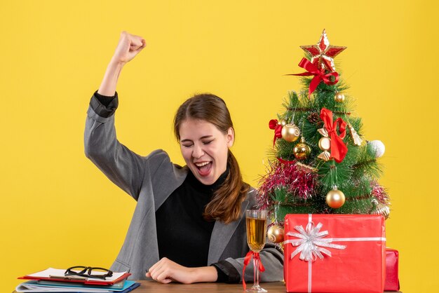
[[234,153],[256,185],[273,137],[268,121],[300,89],[283,74],[302,72],[299,46],[323,28],[348,47],[336,61],[366,139],[386,144],[387,245],[400,251],[401,288],[438,290],[433,2],[1,1],[0,292],[50,266],[108,267],[119,252],[135,201],[86,159],[83,126],[122,30],[148,46],[121,75],[121,142],[140,154],[166,149],[182,163],[173,114],[210,91],[229,105]]

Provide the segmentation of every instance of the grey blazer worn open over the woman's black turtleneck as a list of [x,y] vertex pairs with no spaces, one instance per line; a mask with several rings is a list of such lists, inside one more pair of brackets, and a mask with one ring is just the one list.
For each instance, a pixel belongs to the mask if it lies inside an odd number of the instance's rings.
[[[107,177],[137,200],[125,241],[116,257],[112,271],[129,271],[130,279],[145,280],[145,270],[158,259],[156,210],[182,184],[188,168],[170,162],[165,151],[156,150],[148,156],[139,156],[116,139],[114,115],[103,118],[88,108],[84,146],[86,156]],[[242,217],[231,224],[215,222],[210,238],[208,264],[228,261],[241,275],[243,257],[248,252],[245,230],[245,213],[255,207],[251,190],[242,203]],[[266,270],[263,282],[283,280],[283,254],[267,244],[260,252]],[[245,269],[245,280],[252,280],[252,261]]]

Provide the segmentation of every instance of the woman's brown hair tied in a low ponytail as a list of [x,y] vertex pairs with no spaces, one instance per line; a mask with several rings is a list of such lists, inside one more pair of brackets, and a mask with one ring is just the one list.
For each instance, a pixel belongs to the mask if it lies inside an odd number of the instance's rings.
[[[229,128],[234,127],[224,100],[210,93],[194,95],[178,108],[174,118],[174,133],[179,142],[180,125],[188,118],[212,123],[224,134],[227,134]],[[243,182],[238,161],[230,149],[227,154],[227,165],[229,174],[224,183],[215,191],[203,214],[204,219],[220,220],[225,224],[241,217],[241,203],[250,189],[250,186]]]

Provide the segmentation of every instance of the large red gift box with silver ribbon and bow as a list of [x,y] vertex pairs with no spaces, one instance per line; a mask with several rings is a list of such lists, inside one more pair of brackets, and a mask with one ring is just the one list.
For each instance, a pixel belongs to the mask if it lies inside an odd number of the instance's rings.
[[382,293],[384,217],[372,214],[287,214],[287,292]]

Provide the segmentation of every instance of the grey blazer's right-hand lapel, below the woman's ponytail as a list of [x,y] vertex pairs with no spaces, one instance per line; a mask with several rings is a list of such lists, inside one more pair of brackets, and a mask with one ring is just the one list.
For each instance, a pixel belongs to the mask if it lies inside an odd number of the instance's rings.
[[[248,207],[248,200],[244,200],[241,204],[241,219],[245,220],[245,210]],[[210,236],[209,245],[209,255],[208,255],[208,266],[210,264],[217,262],[219,257],[221,257],[222,252],[229,244],[231,236],[234,234],[236,227],[238,227],[241,219],[238,219],[230,224],[224,224],[221,221],[216,221],[215,226],[213,226],[212,236]]]

